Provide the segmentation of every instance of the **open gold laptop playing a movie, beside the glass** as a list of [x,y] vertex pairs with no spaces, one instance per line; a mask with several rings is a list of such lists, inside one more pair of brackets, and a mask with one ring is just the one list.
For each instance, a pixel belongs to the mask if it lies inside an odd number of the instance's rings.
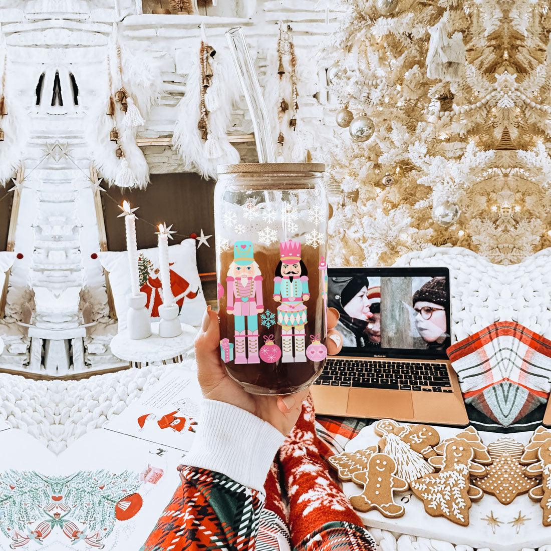
[[316,413],[467,425],[451,344],[447,268],[330,268],[342,351],[312,386]]

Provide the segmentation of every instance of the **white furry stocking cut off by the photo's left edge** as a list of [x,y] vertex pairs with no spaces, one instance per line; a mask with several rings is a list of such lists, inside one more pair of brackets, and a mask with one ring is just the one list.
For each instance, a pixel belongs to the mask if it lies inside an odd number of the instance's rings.
[[[15,175],[29,137],[28,117],[21,109],[23,102],[10,102],[15,90],[8,84],[18,82],[17,75],[8,74],[8,46],[0,29],[0,185]],[[9,107],[9,112],[8,112]]]

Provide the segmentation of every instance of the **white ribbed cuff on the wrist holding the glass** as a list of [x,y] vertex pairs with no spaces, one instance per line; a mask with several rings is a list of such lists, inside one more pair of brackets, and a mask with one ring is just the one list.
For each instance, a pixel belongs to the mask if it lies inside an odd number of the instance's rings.
[[274,426],[244,409],[204,400],[197,433],[184,463],[262,490],[284,439]]

